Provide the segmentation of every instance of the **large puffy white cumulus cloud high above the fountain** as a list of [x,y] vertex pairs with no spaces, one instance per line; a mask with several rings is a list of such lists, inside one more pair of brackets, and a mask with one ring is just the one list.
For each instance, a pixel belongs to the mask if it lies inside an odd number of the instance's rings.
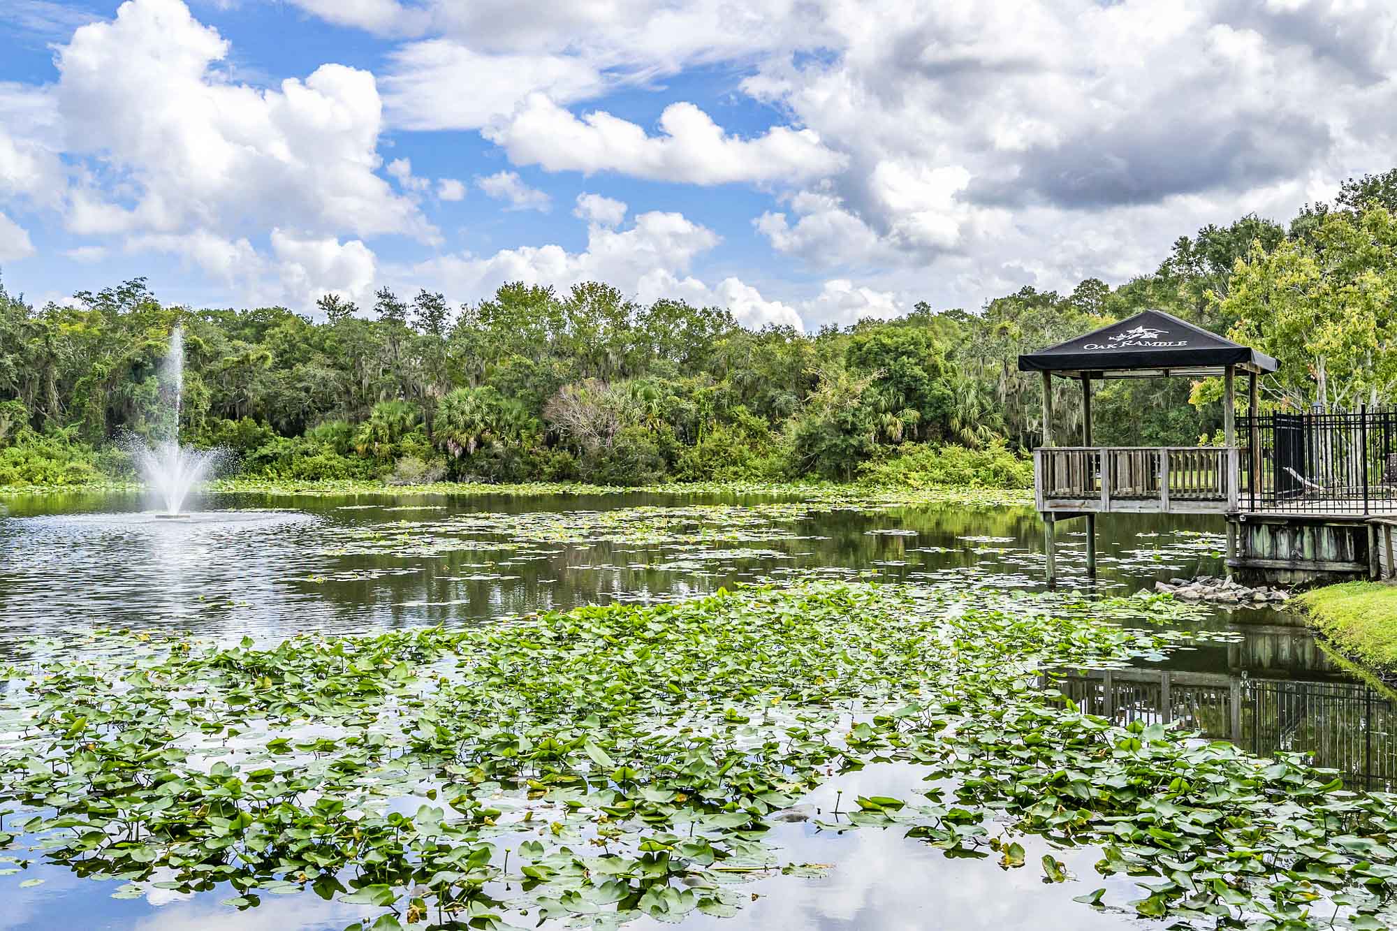
[[258,89],[211,70],[226,55],[180,0],[129,0],[59,48],[66,148],[124,179],[119,194],[85,193],[74,232],[432,238],[412,200],[374,173],[383,108],[370,73],[324,64]]

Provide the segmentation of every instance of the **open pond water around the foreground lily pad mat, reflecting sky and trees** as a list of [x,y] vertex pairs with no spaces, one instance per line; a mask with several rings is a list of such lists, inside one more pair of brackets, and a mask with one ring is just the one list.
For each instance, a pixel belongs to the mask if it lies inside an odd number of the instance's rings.
[[[1097,580],[1085,577],[1080,533],[1063,540],[1059,531],[1059,590],[1081,590],[1087,600],[1133,596],[1155,580],[1221,573],[1221,520],[1109,516],[1098,530]],[[190,632],[224,644],[249,637],[268,646],[305,632],[471,630],[588,604],[662,604],[738,583],[821,577],[909,583],[942,593],[943,601],[977,590],[1037,593],[1044,589],[1041,524],[1030,507],[799,496],[240,493],[208,496],[182,520],[156,519],[134,495],[11,498],[0,503],[0,664],[56,651],[101,653],[101,640],[94,646],[88,636],[98,629]],[[1060,689],[1084,712],[1119,724],[1178,721],[1260,756],[1308,751],[1317,766],[1340,770],[1348,786],[1389,787],[1397,769],[1397,712],[1382,692],[1340,668],[1294,618],[1165,601],[1158,612],[1169,628],[1206,636],[1187,649],[1143,651],[1130,668],[1073,668]],[[1129,608],[1120,619],[1139,625]],[[1111,611],[1098,621],[1112,622]],[[1129,910],[1071,902],[1101,883],[1092,871],[1099,847],[1062,850],[1024,836],[1020,854],[1030,864],[1052,854],[1081,879],[1056,883],[1032,867],[1004,871],[993,860],[947,856],[904,836],[905,828],[845,830],[841,815],[831,814],[841,804],[847,811],[855,797],[922,793],[928,773],[894,758],[831,770],[792,808],[805,814],[778,819],[764,839],[784,861],[809,868],[753,872],[735,914],[694,909],[685,913],[685,925],[1083,928],[1140,921]],[[404,811],[411,816],[416,804]],[[187,892],[156,885],[113,897],[116,882],[80,872],[41,854],[0,875],[7,903],[0,928],[49,928],[56,916],[84,928],[344,928],[381,913],[295,889],[243,910],[224,904],[235,895],[226,886]],[[1104,882],[1108,897],[1133,885],[1125,876]],[[578,913],[570,921],[584,918]],[[535,918],[518,921],[532,927]],[[626,927],[651,925],[658,923],[640,916]]]

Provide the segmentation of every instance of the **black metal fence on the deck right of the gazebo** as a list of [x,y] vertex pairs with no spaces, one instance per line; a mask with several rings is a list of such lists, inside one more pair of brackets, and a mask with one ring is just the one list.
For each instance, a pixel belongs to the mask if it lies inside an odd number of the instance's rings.
[[1397,512],[1397,411],[1243,417],[1241,500],[1252,510]]

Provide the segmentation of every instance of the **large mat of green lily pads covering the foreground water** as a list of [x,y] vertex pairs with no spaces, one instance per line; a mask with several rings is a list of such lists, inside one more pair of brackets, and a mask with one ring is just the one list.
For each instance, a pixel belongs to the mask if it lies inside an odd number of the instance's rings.
[[1384,927],[1397,797],[1053,688],[1211,636],[1097,621],[1158,605],[803,582],[460,632],[101,635],[6,674],[0,847],[120,896],[312,889],[379,909],[376,928],[606,928],[733,914],[746,878],[824,869],[785,863],[771,822],[833,773],[902,760],[923,797],[861,797],[828,826],[1004,868],[1031,833],[1140,883],[1083,907]]

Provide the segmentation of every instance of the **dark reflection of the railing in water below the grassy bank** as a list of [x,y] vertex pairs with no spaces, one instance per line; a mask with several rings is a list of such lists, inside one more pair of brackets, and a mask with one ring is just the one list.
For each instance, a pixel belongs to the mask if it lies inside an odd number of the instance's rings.
[[1118,724],[1176,721],[1257,756],[1313,753],[1354,788],[1397,786],[1397,709],[1361,682],[1132,668],[1055,674],[1051,684]]

